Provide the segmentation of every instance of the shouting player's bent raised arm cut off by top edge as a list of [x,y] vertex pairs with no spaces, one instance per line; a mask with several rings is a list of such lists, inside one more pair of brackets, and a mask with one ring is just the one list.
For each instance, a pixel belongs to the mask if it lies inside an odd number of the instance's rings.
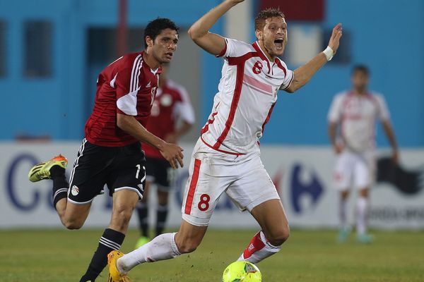
[[190,27],[190,38],[205,51],[213,55],[220,54],[225,48],[225,39],[220,35],[209,32],[209,30],[223,14],[242,1],[244,0],[225,0],[211,11],[208,11]]

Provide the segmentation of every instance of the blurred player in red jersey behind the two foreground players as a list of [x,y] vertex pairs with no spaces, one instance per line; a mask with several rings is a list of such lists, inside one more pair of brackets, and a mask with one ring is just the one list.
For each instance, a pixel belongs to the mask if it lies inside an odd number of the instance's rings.
[[[159,87],[153,102],[151,116],[146,129],[165,142],[176,144],[179,137],[187,133],[194,123],[194,110],[187,90],[167,75],[169,63],[163,63],[159,77]],[[158,192],[156,209],[155,236],[163,233],[168,213],[168,195],[174,184],[175,170],[155,147],[143,144],[146,154],[146,188],[143,200],[137,204],[141,237],[136,247],[150,240],[148,233],[148,193],[151,184],[155,184]]]

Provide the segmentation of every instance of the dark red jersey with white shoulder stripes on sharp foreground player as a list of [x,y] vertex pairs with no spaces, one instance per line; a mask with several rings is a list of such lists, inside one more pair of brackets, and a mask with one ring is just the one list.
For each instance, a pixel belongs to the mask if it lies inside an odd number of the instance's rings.
[[86,123],[88,142],[105,147],[137,142],[117,127],[117,114],[134,116],[146,126],[160,71],[143,61],[143,52],[126,54],[107,66],[98,77],[93,113]]

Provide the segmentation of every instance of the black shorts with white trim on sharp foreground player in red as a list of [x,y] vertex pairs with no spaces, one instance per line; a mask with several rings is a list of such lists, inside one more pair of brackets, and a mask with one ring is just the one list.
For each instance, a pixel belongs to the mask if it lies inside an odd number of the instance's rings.
[[69,183],[68,200],[73,204],[92,202],[96,195],[102,194],[105,184],[110,196],[127,189],[137,192],[141,199],[146,183],[146,159],[140,143],[102,147],[84,138]]

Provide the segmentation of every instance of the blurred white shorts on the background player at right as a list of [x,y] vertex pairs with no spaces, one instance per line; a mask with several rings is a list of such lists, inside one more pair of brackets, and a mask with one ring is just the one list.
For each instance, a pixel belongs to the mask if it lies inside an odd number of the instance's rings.
[[371,188],[375,180],[375,152],[343,151],[336,159],[334,183],[338,190]]

